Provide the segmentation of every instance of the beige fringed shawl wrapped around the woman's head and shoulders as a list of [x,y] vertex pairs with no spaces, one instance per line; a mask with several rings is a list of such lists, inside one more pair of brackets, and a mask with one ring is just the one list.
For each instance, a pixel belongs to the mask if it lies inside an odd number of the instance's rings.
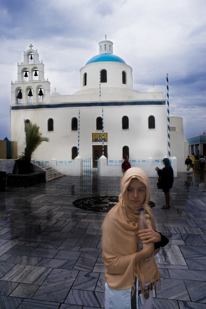
[[134,280],[137,277],[140,289],[146,293],[143,289],[145,282],[150,283],[150,290],[153,289],[157,280],[160,280],[160,273],[153,252],[150,260],[135,263],[139,210],[135,209],[127,198],[127,187],[132,178],[137,178],[146,186],[146,196],[142,206],[148,227],[156,231],[152,210],[146,205],[150,200],[147,175],[141,168],[132,167],[122,177],[119,203],[108,212],[103,222],[105,280],[111,289],[125,290],[134,287]]

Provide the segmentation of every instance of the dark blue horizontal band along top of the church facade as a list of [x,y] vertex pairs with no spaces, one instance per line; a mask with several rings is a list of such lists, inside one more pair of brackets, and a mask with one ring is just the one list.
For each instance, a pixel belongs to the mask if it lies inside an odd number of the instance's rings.
[[135,105],[165,105],[165,101],[125,101],[125,102],[86,102],[86,103],[59,103],[59,104],[34,104],[15,105],[12,110],[17,109],[41,109],[41,108],[66,108],[66,107],[100,107],[100,106],[135,106]]

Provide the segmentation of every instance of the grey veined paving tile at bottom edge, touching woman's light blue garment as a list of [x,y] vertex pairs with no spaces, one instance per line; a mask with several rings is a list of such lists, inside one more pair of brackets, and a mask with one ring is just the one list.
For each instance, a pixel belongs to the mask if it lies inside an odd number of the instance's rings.
[[71,289],[64,303],[104,308],[104,293]]

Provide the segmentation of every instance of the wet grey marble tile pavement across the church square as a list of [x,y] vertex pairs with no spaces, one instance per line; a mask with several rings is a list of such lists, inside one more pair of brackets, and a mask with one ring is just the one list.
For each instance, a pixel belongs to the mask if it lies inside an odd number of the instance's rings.
[[[0,308],[104,308],[104,212],[76,208],[86,197],[118,196],[119,177],[63,177],[0,193]],[[157,230],[169,238],[156,255],[161,290],[153,309],[206,309],[206,172],[178,173],[169,210],[149,179]]]

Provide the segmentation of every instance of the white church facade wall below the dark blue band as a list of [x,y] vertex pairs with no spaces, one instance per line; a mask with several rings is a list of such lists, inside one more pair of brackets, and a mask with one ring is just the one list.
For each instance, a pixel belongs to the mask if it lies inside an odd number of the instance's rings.
[[[39,146],[35,160],[71,160],[71,149],[78,147],[78,131],[71,130],[72,117],[79,117],[80,109],[80,142],[79,155],[92,158],[92,146],[102,143],[92,142],[92,133],[96,130],[96,118],[102,117],[102,107],[85,108],[45,108],[11,112],[11,140],[18,142],[18,154],[24,149],[24,119],[36,122],[43,135],[50,142]],[[130,159],[162,159],[167,155],[167,127],[165,105],[160,106],[121,106],[103,107],[104,133],[108,135],[108,159],[121,160],[122,147],[128,146]],[[148,116],[155,116],[156,129],[148,129]],[[128,116],[129,129],[122,129],[122,117]],[[54,132],[47,131],[47,120],[54,119]],[[15,124],[15,125],[14,125]]]

